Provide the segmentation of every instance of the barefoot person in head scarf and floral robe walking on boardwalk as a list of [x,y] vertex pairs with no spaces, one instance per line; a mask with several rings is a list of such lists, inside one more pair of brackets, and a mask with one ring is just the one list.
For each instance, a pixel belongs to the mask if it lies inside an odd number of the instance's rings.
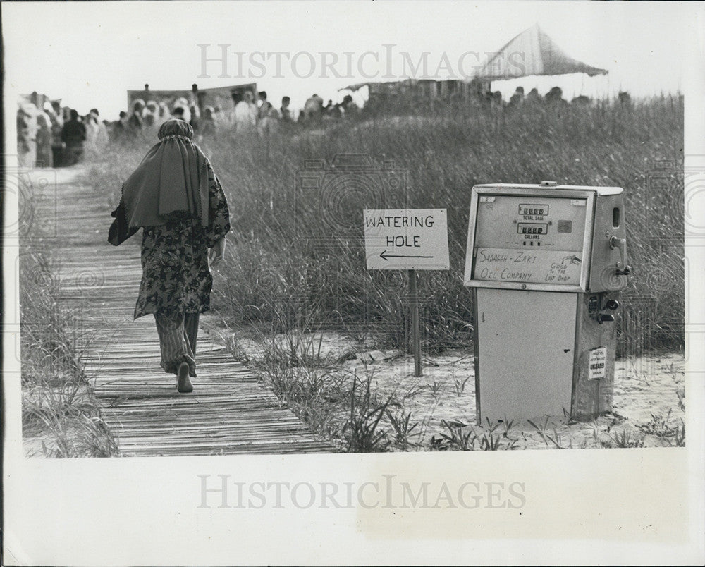
[[120,245],[142,228],[142,281],[134,317],[153,314],[161,367],[180,393],[193,390],[200,313],[209,310],[211,267],[225,255],[231,230],[221,183],[193,128],[177,119],[122,187],[108,241]]

